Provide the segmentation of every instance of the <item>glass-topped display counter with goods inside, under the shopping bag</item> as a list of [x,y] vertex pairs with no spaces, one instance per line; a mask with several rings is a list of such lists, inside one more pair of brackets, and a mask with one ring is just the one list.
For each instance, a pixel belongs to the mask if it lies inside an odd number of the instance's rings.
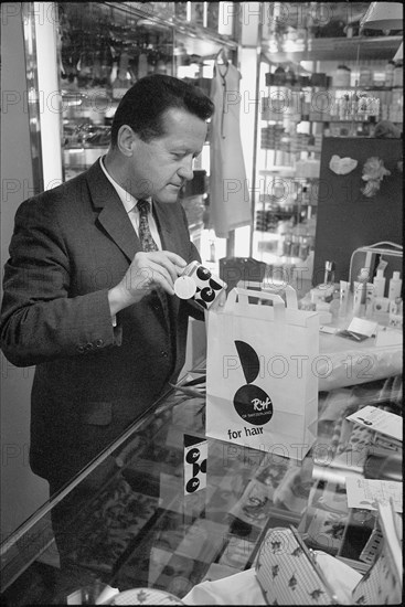
[[344,479],[401,481],[402,446],[347,416],[365,405],[401,416],[402,375],[320,392],[318,440],[302,461],[209,438],[193,464],[201,488],[186,492],[184,444],[205,439],[204,373],[188,373],[3,542],[3,605],[66,604],[94,583],[181,598],[251,568],[266,531],[291,524],[365,573],[375,515],[348,508]]

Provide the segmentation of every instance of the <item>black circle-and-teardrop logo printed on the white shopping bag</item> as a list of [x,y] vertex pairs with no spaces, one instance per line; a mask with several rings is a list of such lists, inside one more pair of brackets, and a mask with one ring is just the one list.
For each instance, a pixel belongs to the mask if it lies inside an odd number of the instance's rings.
[[254,382],[260,371],[260,361],[256,351],[245,341],[235,340],[246,385],[236,391],[234,407],[239,417],[255,426],[267,424],[273,417],[273,403],[268,394]]

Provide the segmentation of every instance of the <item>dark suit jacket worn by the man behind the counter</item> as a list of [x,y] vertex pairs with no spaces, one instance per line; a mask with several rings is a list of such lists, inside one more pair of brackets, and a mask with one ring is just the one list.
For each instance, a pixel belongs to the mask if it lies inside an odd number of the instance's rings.
[[[180,203],[153,202],[162,247],[199,259]],[[117,315],[107,291],[140,243],[97,161],[21,204],[6,265],[1,343],[18,366],[36,365],[30,460],[44,478],[68,479],[175,380],[192,308],[169,296]],[[193,315],[194,316],[194,315]]]

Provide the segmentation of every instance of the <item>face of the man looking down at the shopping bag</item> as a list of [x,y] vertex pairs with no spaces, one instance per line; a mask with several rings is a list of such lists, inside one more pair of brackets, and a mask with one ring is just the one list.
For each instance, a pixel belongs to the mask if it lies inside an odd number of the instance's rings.
[[175,202],[180,188],[193,179],[193,160],[201,153],[206,123],[186,110],[171,108],[163,116],[164,135],[149,142],[136,136],[130,192],[158,202]]

